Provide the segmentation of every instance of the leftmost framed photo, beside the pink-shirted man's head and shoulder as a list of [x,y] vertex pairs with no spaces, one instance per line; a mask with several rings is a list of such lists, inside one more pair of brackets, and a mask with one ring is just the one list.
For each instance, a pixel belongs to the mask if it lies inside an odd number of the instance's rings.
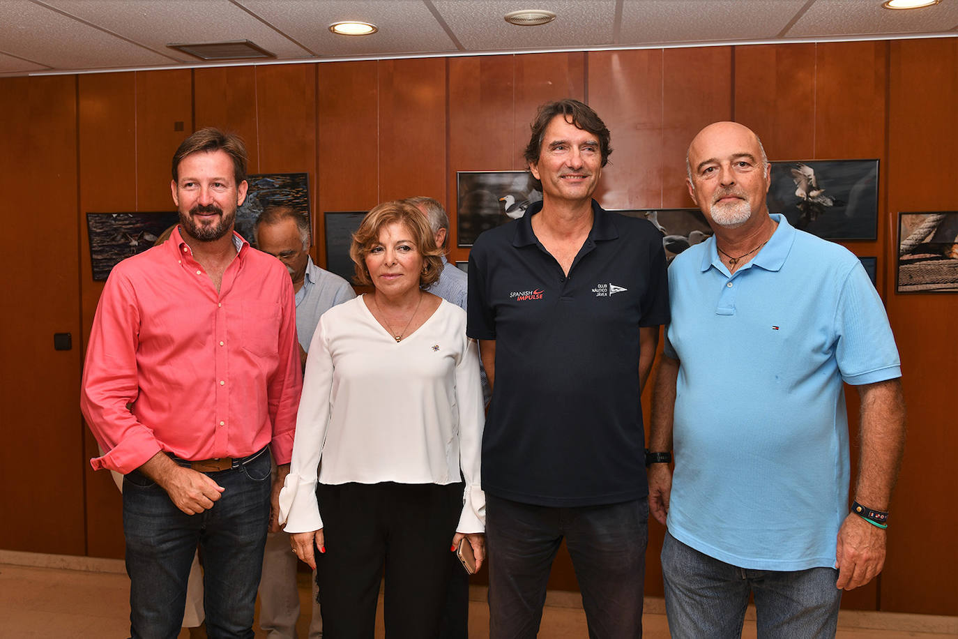
[[177,221],[175,211],[86,214],[93,279],[106,280],[114,266],[146,251]]

